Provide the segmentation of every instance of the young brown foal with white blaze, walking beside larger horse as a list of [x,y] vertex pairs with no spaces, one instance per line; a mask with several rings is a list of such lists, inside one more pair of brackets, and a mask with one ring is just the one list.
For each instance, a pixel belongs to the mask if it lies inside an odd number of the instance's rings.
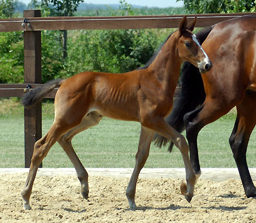
[[[81,182],[81,193],[88,198],[88,173],[76,156],[71,144],[75,134],[99,123],[103,117],[141,123],[136,164],[126,195],[130,209],[135,210],[134,196],[138,175],[149,154],[154,132],[172,140],[180,149],[186,168],[187,185],[184,195],[191,201],[196,181],[189,159],[189,146],[185,137],[165,121],[172,109],[180,66],[190,61],[201,72],[211,69],[211,62],[192,34],[196,18],[187,25],[183,17],[176,32],[168,37],[150,65],[124,74],[81,72],[66,80],[54,80],[42,88],[28,91],[24,106],[31,106],[60,86],[55,97],[55,119],[49,131],[35,143],[30,171],[22,191],[24,209],[31,209],[30,196],[37,168],[55,142],[59,142],[73,163]],[[187,186],[187,187],[186,187]],[[183,190],[184,191],[184,190]]]

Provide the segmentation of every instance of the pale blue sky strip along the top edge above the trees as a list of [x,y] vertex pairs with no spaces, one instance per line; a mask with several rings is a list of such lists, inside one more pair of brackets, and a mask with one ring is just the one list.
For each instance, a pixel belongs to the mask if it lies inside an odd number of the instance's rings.
[[[31,0],[20,0],[21,2],[28,4]],[[138,6],[147,6],[147,7],[182,7],[183,2],[176,0],[126,0],[128,4],[138,5]],[[93,4],[119,4],[119,0],[84,0],[84,3],[93,3]]]

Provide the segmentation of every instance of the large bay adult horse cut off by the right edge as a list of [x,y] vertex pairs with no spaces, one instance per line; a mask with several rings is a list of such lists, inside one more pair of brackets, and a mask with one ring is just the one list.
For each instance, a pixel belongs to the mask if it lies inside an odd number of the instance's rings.
[[[200,176],[197,135],[234,106],[237,117],[229,138],[247,197],[256,197],[247,166],[247,146],[256,123],[256,17],[234,18],[197,33],[214,67],[206,74],[185,62],[182,69],[182,90],[173,104],[167,122],[178,132],[186,128],[192,167]],[[155,137],[162,146],[167,139]],[[173,143],[169,150],[171,151]]]

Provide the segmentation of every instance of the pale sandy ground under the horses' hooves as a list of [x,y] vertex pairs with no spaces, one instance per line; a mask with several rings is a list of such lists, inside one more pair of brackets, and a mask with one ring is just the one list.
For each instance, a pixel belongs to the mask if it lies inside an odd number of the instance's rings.
[[0,177],[0,222],[256,222],[256,198],[245,197],[240,180],[199,180],[188,203],[181,179],[139,179],[138,210],[130,211],[127,177],[89,177],[86,201],[76,176],[37,176],[32,210],[25,211],[20,193],[27,173]]

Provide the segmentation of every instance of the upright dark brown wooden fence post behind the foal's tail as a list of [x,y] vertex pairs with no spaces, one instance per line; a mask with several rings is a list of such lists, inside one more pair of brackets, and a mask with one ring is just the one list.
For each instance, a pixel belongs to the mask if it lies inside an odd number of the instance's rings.
[[[40,10],[25,10],[23,16],[41,17]],[[27,26],[28,23],[25,23]],[[41,84],[41,31],[24,31],[24,83]],[[30,167],[35,142],[42,137],[42,104],[24,109],[25,167]],[[42,167],[42,164],[41,166]]]

